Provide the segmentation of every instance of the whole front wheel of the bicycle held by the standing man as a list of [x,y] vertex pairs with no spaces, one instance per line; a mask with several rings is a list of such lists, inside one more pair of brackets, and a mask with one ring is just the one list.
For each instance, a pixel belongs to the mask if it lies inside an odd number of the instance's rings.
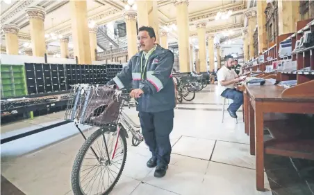
[[126,162],[126,138],[122,133],[98,129],[78,151],[72,168],[74,195],[107,195],[117,184]]

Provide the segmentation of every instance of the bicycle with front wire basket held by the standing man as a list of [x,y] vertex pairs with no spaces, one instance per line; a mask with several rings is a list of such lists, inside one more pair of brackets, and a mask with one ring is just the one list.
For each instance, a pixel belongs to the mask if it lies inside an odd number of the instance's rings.
[[[127,132],[130,131],[133,135],[132,145],[137,146],[143,141],[140,126],[123,112],[127,100],[129,93],[106,85],[76,84],[73,87],[65,120],[73,121],[85,139],[72,167],[74,195],[109,194],[117,184],[126,163],[126,138],[129,138]],[[86,138],[78,124],[88,124],[99,129]],[[94,175],[90,179],[88,176],[92,173]],[[107,175],[108,180],[104,181]],[[95,184],[95,181],[99,183]]]

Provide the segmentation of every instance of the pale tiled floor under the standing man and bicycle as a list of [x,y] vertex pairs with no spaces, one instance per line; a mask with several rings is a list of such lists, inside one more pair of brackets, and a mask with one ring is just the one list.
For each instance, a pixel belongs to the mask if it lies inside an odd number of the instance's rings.
[[[147,146],[142,142],[133,147],[129,139],[126,166],[110,194],[272,194],[266,174],[266,191],[256,191],[255,158],[249,155],[242,112],[238,112],[238,124],[227,113],[222,123],[222,98],[215,91],[197,93],[195,100],[184,103],[178,108],[189,109],[175,110],[167,175],[154,178],[154,169],[146,167],[150,158]],[[134,109],[126,112],[138,122]],[[14,131],[12,127],[6,129]],[[84,129],[88,134],[94,131]],[[75,132],[73,124],[65,124],[1,145],[1,174],[27,195],[73,194],[70,175],[83,144]]]

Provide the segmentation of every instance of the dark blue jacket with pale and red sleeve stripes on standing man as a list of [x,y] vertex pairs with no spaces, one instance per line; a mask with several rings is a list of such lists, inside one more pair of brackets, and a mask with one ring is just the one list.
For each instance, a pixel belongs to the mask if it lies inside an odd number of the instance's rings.
[[[132,82],[133,89],[144,91],[144,94],[138,98],[137,111],[154,113],[174,109],[175,95],[172,80],[174,54],[157,45],[156,50],[148,58],[146,71],[143,71],[144,78],[142,78],[140,67],[142,53],[143,51],[140,51],[131,57],[129,64],[124,66],[113,81],[119,89],[129,86]],[[145,64],[144,56],[142,64],[143,66]]]

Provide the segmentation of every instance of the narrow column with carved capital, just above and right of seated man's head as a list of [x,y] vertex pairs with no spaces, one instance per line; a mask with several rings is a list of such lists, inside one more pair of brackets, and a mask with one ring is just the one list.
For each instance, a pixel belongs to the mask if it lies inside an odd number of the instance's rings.
[[256,28],[256,8],[250,8],[245,12],[247,17],[248,29],[247,34],[249,35],[249,59],[254,59],[254,30]]

